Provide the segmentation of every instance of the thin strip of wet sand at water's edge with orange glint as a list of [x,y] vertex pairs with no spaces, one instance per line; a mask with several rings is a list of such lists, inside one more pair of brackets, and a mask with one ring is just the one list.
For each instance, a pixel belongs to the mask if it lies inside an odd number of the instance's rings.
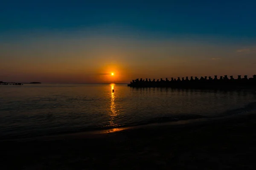
[[[233,110],[235,111],[235,110]],[[230,111],[229,111],[230,112]],[[245,111],[247,113],[234,113],[221,116],[209,116],[203,118],[194,118],[194,119],[185,119],[177,121],[167,121],[167,122],[154,122],[143,125],[135,125],[128,127],[115,127],[115,128],[106,128],[102,130],[84,130],[81,132],[70,132],[70,133],[61,133],[61,134],[52,134],[46,136],[33,136],[33,137],[20,137],[16,139],[3,139],[0,142],[32,142],[32,141],[53,141],[53,140],[66,140],[66,139],[92,139],[92,138],[101,138],[102,136],[109,133],[118,133],[120,131],[131,131],[138,129],[156,129],[156,128],[179,128],[180,126],[195,126],[195,125],[204,125],[206,123],[212,123],[217,121],[226,121],[226,119],[238,119],[239,117],[244,117],[248,115],[256,114],[256,111]]]

